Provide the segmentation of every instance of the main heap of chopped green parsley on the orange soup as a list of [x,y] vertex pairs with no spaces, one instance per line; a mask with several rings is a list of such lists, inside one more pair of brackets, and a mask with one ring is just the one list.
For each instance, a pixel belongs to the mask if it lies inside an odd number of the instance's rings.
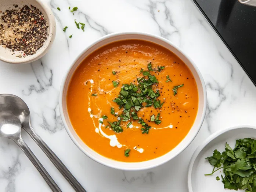
[[[137,112],[144,107],[154,106],[154,108],[161,108],[164,102],[161,102],[158,97],[160,96],[159,90],[153,90],[152,86],[158,84],[158,80],[155,75],[151,75],[150,71],[162,71],[165,67],[157,67],[157,69],[152,68],[152,63],[148,63],[148,71],[141,69],[143,77],[137,78],[138,85],[130,83],[123,84],[121,91],[117,98],[113,101],[119,105],[119,109],[123,109],[122,114],[119,115],[120,120],[126,122],[131,119],[138,120],[143,127],[141,128],[142,133],[147,133],[151,128],[142,119],[139,120]],[[113,86],[117,87],[118,84],[113,81]],[[160,115],[160,114],[159,114]],[[159,115],[154,118],[156,124],[160,124],[161,121],[158,120]],[[120,120],[118,122],[120,122]],[[114,122],[115,123],[115,122]],[[111,124],[112,128],[122,132],[123,129],[120,127],[120,123]],[[117,128],[118,126],[118,128]],[[120,127],[120,128],[119,128]],[[113,130],[114,130],[113,129]],[[121,131],[122,129],[122,131]]]

